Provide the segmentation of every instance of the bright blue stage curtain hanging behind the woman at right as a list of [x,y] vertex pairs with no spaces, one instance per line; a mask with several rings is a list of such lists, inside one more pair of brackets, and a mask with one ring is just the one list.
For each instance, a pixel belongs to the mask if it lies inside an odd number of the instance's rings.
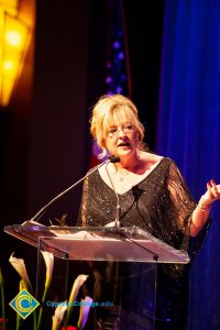
[[[164,11],[157,153],[179,166],[198,201],[220,184],[220,1],[167,0]],[[193,263],[188,329],[220,329],[220,201]]]

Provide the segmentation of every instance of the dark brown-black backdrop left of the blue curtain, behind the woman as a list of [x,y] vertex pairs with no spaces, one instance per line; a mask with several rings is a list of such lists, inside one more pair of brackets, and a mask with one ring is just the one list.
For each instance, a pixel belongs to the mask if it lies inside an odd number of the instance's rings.
[[[15,252],[24,258],[34,283],[36,249],[4,233],[4,226],[30,219],[88,169],[90,109],[106,94],[109,6],[103,0],[36,1],[35,33],[19,86],[10,106],[0,109],[0,256],[10,283],[7,301],[18,293],[19,283],[9,256]],[[152,150],[163,6],[163,1],[124,1],[132,99]],[[54,204],[42,223],[67,213],[67,223],[74,226],[80,193],[81,185]]]

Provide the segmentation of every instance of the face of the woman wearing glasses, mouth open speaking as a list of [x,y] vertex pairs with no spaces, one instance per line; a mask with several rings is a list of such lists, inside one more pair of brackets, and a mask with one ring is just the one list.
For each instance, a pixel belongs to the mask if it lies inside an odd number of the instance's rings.
[[130,157],[136,152],[138,145],[139,134],[132,123],[125,121],[108,128],[106,146],[110,154],[120,158]]

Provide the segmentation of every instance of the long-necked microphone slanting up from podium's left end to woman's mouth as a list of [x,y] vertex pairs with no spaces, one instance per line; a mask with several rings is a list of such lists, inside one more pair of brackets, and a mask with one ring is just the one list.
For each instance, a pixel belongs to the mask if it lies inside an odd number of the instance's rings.
[[63,197],[65,194],[67,194],[68,191],[70,191],[72,189],[74,189],[78,184],[80,184],[85,178],[87,178],[90,174],[92,174],[95,170],[97,170],[99,167],[103,166],[103,165],[108,165],[109,163],[118,163],[120,162],[120,158],[114,156],[114,155],[110,155],[105,162],[100,163],[99,165],[97,165],[95,168],[92,168],[90,172],[88,172],[84,177],[81,177],[78,182],[76,182],[75,184],[73,184],[70,187],[68,187],[67,189],[65,189],[64,191],[62,191],[61,194],[58,194],[57,196],[55,196],[50,202],[47,202],[43,208],[40,209],[40,211],[32,217],[30,220],[25,221],[22,223],[26,224],[28,222],[36,222],[37,220],[43,216],[43,213],[45,213],[45,211],[48,209],[48,207],[51,205],[53,205],[57,199],[59,199],[61,197]]

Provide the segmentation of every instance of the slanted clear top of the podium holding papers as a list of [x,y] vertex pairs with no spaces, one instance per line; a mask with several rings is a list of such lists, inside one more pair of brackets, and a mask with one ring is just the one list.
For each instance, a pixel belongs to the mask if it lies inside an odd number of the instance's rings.
[[186,251],[176,250],[138,227],[58,227],[28,221],[6,226],[4,232],[57,257],[187,264]]

